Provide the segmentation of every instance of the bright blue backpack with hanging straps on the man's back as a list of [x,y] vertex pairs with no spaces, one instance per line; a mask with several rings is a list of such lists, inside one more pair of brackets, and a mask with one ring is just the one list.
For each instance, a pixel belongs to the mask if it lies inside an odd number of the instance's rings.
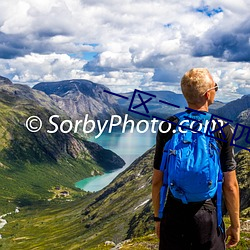
[[163,185],[159,217],[163,217],[168,189],[184,204],[211,199],[217,192],[217,219],[220,227],[223,175],[219,148],[210,131],[211,114],[192,111],[175,116],[179,122],[172,138],[164,146],[160,166]]

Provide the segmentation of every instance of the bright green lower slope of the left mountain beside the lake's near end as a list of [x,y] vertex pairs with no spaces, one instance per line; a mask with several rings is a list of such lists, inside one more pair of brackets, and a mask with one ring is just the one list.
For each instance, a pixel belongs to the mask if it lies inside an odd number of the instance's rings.
[[24,170],[0,171],[1,197],[0,212],[6,213],[15,206],[32,205],[39,200],[52,197],[53,186],[74,188],[74,183],[89,177],[94,164],[64,159],[61,163],[42,163],[24,165]]

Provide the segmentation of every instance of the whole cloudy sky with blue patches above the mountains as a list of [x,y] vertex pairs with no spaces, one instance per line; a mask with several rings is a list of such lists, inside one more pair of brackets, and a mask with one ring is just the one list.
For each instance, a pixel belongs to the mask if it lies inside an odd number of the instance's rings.
[[249,0],[1,1],[0,75],[181,93],[183,74],[205,67],[227,102],[250,94],[249,9]]

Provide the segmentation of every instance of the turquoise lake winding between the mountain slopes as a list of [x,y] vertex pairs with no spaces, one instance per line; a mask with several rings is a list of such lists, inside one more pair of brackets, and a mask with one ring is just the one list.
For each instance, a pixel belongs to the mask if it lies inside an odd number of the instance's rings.
[[123,172],[135,159],[145,153],[155,144],[156,134],[150,130],[140,134],[137,131],[130,133],[112,132],[105,133],[99,138],[90,138],[90,141],[98,143],[106,149],[118,154],[125,162],[125,166],[111,173],[101,176],[93,176],[78,181],[75,186],[85,191],[95,192],[107,186],[119,173]]

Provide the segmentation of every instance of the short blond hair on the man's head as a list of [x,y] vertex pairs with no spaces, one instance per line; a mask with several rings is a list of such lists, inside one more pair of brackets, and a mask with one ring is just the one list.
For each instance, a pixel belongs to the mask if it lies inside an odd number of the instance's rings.
[[212,84],[213,78],[207,69],[194,68],[182,77],[181,90],[188,103],[196,104]]

